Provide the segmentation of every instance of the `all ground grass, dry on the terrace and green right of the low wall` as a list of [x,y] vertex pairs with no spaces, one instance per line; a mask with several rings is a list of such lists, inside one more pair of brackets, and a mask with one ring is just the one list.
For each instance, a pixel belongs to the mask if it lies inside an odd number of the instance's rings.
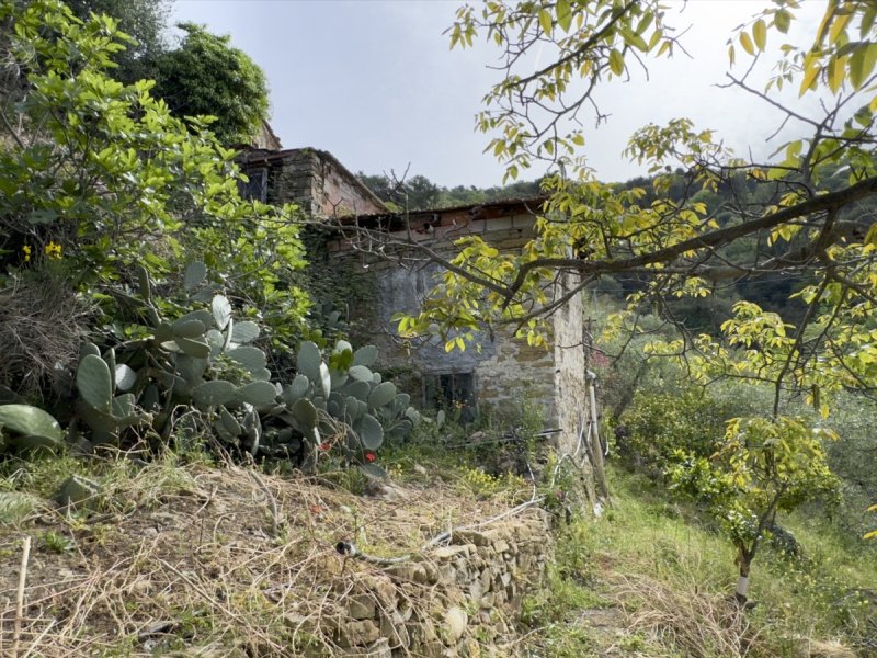
[[[358,591],[368,576],[339,561],[339,538],[398,555],[532,495],[521,478],[489,476],[477,460],[429,443],[381,457],[399,500],[351,495],[367,485],[357,470],[253,476],[171,453],[150,463],[114,453],[5,462],[0,557],[14,565],[21,536],[35,540],[23,637],[107,656],[146,646],[331,655],[321,643],[334,612],[314,612],[311,598]],[[43,501],[71,474],[100,483],[92,510],[60,513]],[[750,590],[756,605],[742,613],[730,544],[648,479],[610,475],[615,499],[603,517],[558,527],[545,588],[524,601],[522,655],[877,656],[877,542],[841,537],[812,511],[783,519],[801,552],[764,546]],[[16,587],[13,569],[8,576],[0,601]],[[173,624],[156,629],[156,620]],[[2,627],[0,653],[1,636]]]

